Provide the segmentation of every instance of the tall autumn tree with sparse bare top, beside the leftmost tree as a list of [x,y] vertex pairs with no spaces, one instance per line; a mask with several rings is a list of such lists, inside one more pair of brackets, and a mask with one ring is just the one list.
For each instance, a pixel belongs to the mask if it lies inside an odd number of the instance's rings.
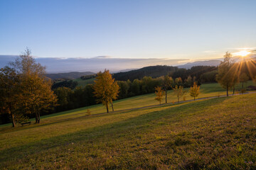
[[23,111],[34,114],[36,123],[40,123],[41,111],[55,106],[57,98],[51,90],[51,81],[46,77],[46,67],[36,63],[28,48],[11,66],[21,79]]

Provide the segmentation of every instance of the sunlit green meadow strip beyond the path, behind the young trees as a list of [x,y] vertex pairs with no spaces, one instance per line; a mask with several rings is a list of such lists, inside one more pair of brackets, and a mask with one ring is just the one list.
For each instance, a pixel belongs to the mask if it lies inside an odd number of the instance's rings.
[[[253,81],[248,81],[247,86],[254,85],[256,86],[256,83]],[[241,84],[238,84],[236,89],[239,89]],[[186,91],[189,91],[189,88],[185,89]],[[233,91],[230,91],[230,95],[233,93]],[[201,94],[198,96],[198,98],[206,98],[206,97],[211,97],[211,96],[222,96],[225,95],[226,91],[223,89],[219,84],[202,84],[201,85]],[[186,100],[191,100],[193,97],[189,95],[189,92],[185,95]],[[158,105],[159,102],[154,100],[155,94],[145,94],[141,96],[134,96],[131,98],[124,98],[118,101],[114,101],[114,111],[120,111],[120,110],[125,110],[125,109],[130,109],[130,108],[139,108],[139,107],[144,107],[144,106],[153,106],[153,105]],[[174,96],[173,91],[168,91],[168,98],[167,98],[168,103],[172,103],[173,101],[177,101],[177,97]],[[183,101],[183,98],[180,99],[180,101]],[[165,103],[165,98],[162,103]],[[87,109],[90,109],[91,114],[98,114],[98,113],[105,113],[106,108],[105,106],[102,106],[102,104],[97,104],[94,106],[87,106],[84,108],[77,108],[71,111],[64,111],[60,113],[55,113],[52,115],[45,115],[42,116],[41,119],[47,119],[47,118],[53,118],[53,117],[58,117],[58,116],[68,116],[69,118],[76,118],[81,115],[87,115]],[[110,111],[111,108],[110,108]],[[32,120],[33,121],[33,120]],[[6,127],[6,126],[11,126],[11,123],[5,124],[5,125],[0,125],[1,127]]]

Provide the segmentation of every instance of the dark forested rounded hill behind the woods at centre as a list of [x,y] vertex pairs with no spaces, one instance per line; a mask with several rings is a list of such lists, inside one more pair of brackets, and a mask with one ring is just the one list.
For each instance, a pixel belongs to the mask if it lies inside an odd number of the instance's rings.
[[142,69],[135,69],[129,72],[119,72],[113,74],[114,79],[119,81],[126,81],[130,80],[133,81],[134,79],[142,79],[143,77],[161,77],[164,75],[167,75],[171,72],[175,72],[178,69],[178,67],[172,67],[172,66],[149,66],[149,67],[143,67]]

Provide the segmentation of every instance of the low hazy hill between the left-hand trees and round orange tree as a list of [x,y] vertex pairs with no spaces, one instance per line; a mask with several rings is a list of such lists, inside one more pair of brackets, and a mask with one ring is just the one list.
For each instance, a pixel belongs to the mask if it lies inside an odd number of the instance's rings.
[[95,74],[94,72],[68,72],[68,73],[55,73],[55,74],[46,74],[46,77],[50,79],[78,79],[82,76],[87,76]]

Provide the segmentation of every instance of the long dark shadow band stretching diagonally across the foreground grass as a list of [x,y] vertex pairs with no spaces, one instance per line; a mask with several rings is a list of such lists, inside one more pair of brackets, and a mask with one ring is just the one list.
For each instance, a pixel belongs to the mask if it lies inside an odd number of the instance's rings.
[[[56,137],[50,137],[41,141],[31,142],[26,145],[21,145],[17,147],[11,147],[9,149],[3,149],[0,151],[0,162],[8,160],[15,161],[16,159],[22,159],[23,155],[30,156],[31,154],[40,154],[40,152],[46,152],[48,149],[54,147],[60,147],[63,145],[68,145],[70,143],[76,142],[90,142],[92,140],[97,140],[99,137],[111,136],[110,139],[114,140],[120,134],[125,134],[127,130],[136,133],[141,133],[146,131],[149,127],[145,126],[151,121],[157,121],[162,118],[169,116],[177,116],[178,111],[182,111],[185,114],[191,113],[191,108],[194,108],[194,112],[201,111],[202,106],[211,106],[218,103],[222,103],[226,98],[213,98],[206,101],[198,101],[187,103],[186,105],[169,107],[161,111],[153,111],[146,113],[144,115],[139,115],[135,118],[129,118],[116,123],[110,123],[107,125],[98,126],[95,128],[88,128],[86,130],[80,130],[78,132],[73,132],[65,135],[60,135]],[[107,115],[100,115],[107,116]],[[178,120],[175,120],[178,121]],[[49,125],[49,124],[47,124]],[[154,124],[156,125],[156,124]],[[153,126],[153,125],[152,125]],[[154,127],[151,127],[154,128]],[[63,142],[65,141],[65,142]],[[0,165],[1,167],[1,165]]]

